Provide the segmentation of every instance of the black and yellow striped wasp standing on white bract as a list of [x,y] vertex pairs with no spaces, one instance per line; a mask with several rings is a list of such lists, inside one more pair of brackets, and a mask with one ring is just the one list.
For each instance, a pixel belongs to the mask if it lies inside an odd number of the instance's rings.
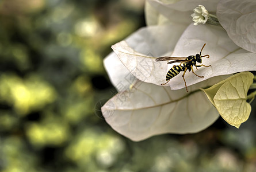
[[[204,49],[204,46],[206,44],[204,44],[202,46],[202,49]],[[200,54],[196,54],[196,56],[188,56],[188,57],[169,57],[169,56],[165,56],[165,57],[158,57],[155,59],[155,61],[167,61],[167,60],[173,60],[173,61],[170,61],[168,62],[167,64],[171,64],[171,63],[174,63],[174,62],[181,62],[181,64],[179,65],[174,65],[166,74],[166,83],[164,84],[161,84],[161,85],[165,85],[167,84],[170,79],[172,79],[174,76],[178,75],[179,72],[182,72],[183,71],[183,80],[184,80],[184,83],[185,83],[185,87],[186,87],[186,81],[184,79],[184,76],[185,76],[185,73],[186,71],[191,71],[194,73],[194,70],[193,70],[193,66],[196,67],[211,67],[211,65],[203,65],[203,64],[200,64],[200,65],[197,65],[196,62],[199,62],[201,63],[202,62],[202,57],[207,57],[209,58],[210,56],[207,54],[207,55],[204,55],[202,56],[202,49],[200,51]],[[194,75],[198,76],[198,77],[204,77],[204,76],[199,76],[197,75],[196,73],[194,73]],[[188,92],[188,87],[186,87],[186,91]]]

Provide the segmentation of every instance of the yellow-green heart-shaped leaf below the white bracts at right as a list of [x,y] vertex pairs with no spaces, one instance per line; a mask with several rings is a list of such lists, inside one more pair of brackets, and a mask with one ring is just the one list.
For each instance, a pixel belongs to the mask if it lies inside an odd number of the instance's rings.
[[208,89],[202,89],[220,116],[236,128],[249,118],[251,105],[246,100],[253,77],[250,72],[240,72]]

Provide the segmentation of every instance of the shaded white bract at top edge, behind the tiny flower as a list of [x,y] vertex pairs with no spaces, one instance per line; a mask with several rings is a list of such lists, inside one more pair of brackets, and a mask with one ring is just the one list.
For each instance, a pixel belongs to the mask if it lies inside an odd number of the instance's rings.
[[[148,0],[148,3],[159,14],[164,15],[172,23],[182,23],[189,25],[191,23],[190,14],[193,9],[198,5],[203,5],[209,11],[209,13],[216,13],[216,7],[219,0],[181,0],[178,2],[170,1],[164,3],[158,0]],[[147,15],[146,15],[147,17]]]

